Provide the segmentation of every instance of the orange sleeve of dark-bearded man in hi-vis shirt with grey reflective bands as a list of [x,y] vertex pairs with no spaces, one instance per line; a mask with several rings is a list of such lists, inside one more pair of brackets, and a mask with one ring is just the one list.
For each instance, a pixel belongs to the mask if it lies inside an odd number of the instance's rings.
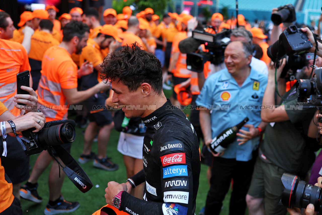
[[77,66],[73,62],[63,62],[58,71],[59,83],[63,89],[77,88]]

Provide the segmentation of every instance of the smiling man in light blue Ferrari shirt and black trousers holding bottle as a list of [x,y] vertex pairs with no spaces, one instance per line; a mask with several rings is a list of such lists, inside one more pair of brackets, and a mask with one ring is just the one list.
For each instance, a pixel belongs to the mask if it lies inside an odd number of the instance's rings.
[[260,110],[267,76],[251,68],[252,48],[249,43],[233,41],[225,49],[223,69],[208,77],[196,103],[200,107],[200,124],[205,144],[226,128],[237,125],[245,117],[249,121],[238,138],[221,154],[213,153],[212,176],[205,215],[219,214],[222,201],[233,179],[230,214],[244,214],[254,166],[252,153],[257,149],[261,131]]

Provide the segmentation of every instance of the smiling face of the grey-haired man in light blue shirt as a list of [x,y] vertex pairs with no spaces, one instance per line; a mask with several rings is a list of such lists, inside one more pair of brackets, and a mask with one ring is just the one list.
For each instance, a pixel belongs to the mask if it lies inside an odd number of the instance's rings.
[[246,57],[242,43],[235,41],[227,45],[224,62],[228,72],[232,76],[238,76],[251,63],[251,55]]

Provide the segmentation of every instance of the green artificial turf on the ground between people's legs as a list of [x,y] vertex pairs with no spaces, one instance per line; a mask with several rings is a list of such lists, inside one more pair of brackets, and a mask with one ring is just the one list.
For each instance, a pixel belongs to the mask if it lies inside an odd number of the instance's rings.
[[[169,98],[172,91],[165,91],[166,97]],[[190,111],[185,111],[186,114],[189,114]],[[73,117],[70,117],[73,119]],[[84,136],[81,133],[85,129],[80,129],[76,127],[76,140],[73,142],[71,147],[71,155],[77,160],[83,150],[83,143],[84,143]],[[119,169],[117,171],[109,172],[104,171],[101,169],[96,169],[93,167],[92,162],[88,162],[86,164],[80,164],[83,170],[87,173],[90,177],[93,188],[86,192],[82,193],[79,191],[75,185],[70,181],[69,178],[65,177],[64,184],[62,187],[62,195],[64,196],[65,200],[68,201],[78,201],[80,202],[81,206],[74,212],[69,214],[71,215],[91,215],[96,210],[99,210],[102,206],[106,204],[105,202],[105,188],[107,187],[107,183],[109,181],[116,181],[118,183],[126,182],[126,169],[123,162],[122,154],[117,151],[117,143],[118,143],[119,132],[112,130],[109,144],[107,147],[107,155],[111,157],[112,161],[119,165]],[[93,143],[92,151],[97,153],[97,142]],[[38,155],[30,156],[30,165],[33,167]],[[49,191],[48,191],[48,175],[51,165],[43,172],[40,176],[38,183],[38,193],[41,197],[43,197],[42,203],[34,203],[32,201],[21,199],[21,206],[23,209],[24,215],[41,215],[43,214],[43,210],[46,207],[46,204],[49,199]],[[196,210],[195,213],[198,215],[199,210],[204,207],[205,200],[207,197],[209,185],[207,182],[206,171],[207,168],[205,165],[201,165],[201,172],[200,172],[200,181],[199,181],[199,191],[197,194],[196,200]],[[31,171],[30,171],[31,173]],[[63,173],[63,172],[62,172]],[[25,182],[24,182],[25,183]],[[22,184],[24,184],[22,183]],[[95,185],[99,185],[98,188]],[[226,195],[226,198],[223,202],[223,210],[221,214],[228,214],[229,208],[229,199],[230,193]]]

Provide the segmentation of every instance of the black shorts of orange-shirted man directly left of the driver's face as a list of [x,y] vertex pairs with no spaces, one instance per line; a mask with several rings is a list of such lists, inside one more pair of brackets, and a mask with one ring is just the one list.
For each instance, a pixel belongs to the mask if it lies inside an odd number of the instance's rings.
[[113,122],[112,114],[105,107],[105,100],[108,96],[105,93],[97,93],[86,100],[90,122],[96,122],[98,126],[109,125]]

